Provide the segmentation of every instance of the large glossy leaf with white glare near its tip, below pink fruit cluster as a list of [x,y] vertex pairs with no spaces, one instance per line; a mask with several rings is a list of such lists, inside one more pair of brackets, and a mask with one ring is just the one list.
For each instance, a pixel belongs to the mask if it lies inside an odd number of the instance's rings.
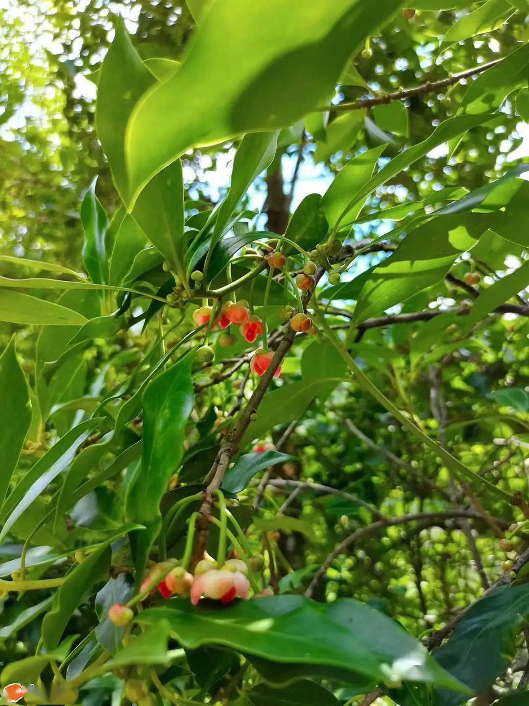
[[138,621],[164,621],[183,647],[224,645],[281,663],[336,666],[376,679],[396,678],[462,688],[420,642],[379,611],[352,599],[322,604],[301,596],[240,601],[219,611],[169,599]]

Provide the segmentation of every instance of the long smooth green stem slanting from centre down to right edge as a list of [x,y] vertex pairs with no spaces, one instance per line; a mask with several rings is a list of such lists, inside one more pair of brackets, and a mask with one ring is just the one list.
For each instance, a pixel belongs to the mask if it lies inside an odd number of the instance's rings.
[[446,466],[448,466],[458,477],[464,477],[469,481],[473,481],[475,483],[481,483],[487,487],[487,489],[491,492],[494,493],[497,497],[501,498],[502,500],[507,501],[508,503],[511,503],[512,501],[512,496],[510,493],[507,493],[504,490],[501,490],[500,488],[497,488],[494,486],[492,483],[489,481],[485,480],[484,478],[478,476],[477,473],[474,473],[471,471],[469,468],[467,468],[465,465],[461,463],[461,461],[458,461],[454,456],[451,455],[446,449],[442,448],[441,445],[439,445],[436,441],[430,438],[430,436],[427,436],[427,434],[424,433],[421,429],[419,429],[418,426],[416,426],[411,419],[408,419],[405,414],[402,414],[402,412],[395,407],[395,405],[390,402],[387,397],[380,392],[380,390],[373,385],[373,383],[367,378],[364,373],[360,370],[358,365],[355,363],[355,361],[351,358],[351,356],[348,354],[347,350],[339,340],[336,338],[336,335],[334,335],[334,332],[330,328],[329,324],[325,320],[324,316],[320,316],[320,313],[317,312],[317,318],[318,321],[320,321],[320,324],[322,325],[322,328],[324,329],[325,333],[327,334],[327,337],[329,338],[330,342],[334,347],[336,348],[336,351],[339,352],[343,360],[346,362],[348,368],[351,370],[351,372],[354,374],[356,381],[358,382],[358,385],[360,385],[361,388],[366,390],[372,397],[379,402],[382,407],[385,407],[388,412],[391,412],[395,419],[400,421],[402,426],[406,427],[408,431],[411,431],[413,435],[418,438],[419,441],[421,441],[425,446],[428,448],[432,449],[432,451],[437,454],[439,458],[441,458],[444,463],[446,463]]

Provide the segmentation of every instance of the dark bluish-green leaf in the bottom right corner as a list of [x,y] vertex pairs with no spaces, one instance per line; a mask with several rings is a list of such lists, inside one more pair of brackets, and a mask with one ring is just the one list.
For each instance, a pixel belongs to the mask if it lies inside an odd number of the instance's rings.
[[[529,616],[529,585],[500,586],[475,602],[456,625],[451,638],[435,650],[437,662],[481,693],[511,663],[514,636]],[[458,706],[463,695],[434,690],[434,706]]]

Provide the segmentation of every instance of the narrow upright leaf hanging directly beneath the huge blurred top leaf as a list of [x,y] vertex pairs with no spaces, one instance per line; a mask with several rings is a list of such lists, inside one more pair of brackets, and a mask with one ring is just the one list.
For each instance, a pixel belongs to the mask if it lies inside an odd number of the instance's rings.
[[217,211],[212,235],[214,244],[226,233],[226,226],[250,184],[274,160],[278,136],[278,132],[253,133],[241,140],[233,160],[228,194]]

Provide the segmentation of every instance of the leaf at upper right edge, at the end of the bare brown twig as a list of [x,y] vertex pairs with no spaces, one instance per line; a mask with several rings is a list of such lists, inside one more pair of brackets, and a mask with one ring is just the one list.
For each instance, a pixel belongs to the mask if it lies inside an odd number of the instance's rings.
[[523,44],[470,83],[458,113],[477,116],[478,113],[497,110],[509,93],[526,86],[528,80],[529,44]]

